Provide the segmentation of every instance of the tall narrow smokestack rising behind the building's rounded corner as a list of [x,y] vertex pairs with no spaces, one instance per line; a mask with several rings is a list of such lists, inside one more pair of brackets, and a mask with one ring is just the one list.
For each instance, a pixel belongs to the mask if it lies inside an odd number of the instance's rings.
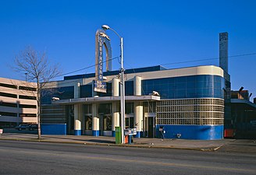
[[229,36],[227,32],[219,33],[219,67],[226,73],[229,73],[228,41]]

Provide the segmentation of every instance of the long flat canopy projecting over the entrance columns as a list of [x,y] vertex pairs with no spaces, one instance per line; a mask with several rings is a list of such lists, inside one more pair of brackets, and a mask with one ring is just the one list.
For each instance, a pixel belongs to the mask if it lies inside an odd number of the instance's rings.
[[[106,103],[119,101],[120,96],[100,96],[66,100],[53,100],[52,104]],[[126,101],[158,101],[160,96],[125,96]]]

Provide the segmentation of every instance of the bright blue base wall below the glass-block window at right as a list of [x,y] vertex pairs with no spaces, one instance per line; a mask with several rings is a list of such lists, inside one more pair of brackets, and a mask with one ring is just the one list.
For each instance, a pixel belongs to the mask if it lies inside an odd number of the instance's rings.
[[[159,131],[159,128],[162,131]],[[156,125],[157,138],[219,140],[223,138],[223,125]]]

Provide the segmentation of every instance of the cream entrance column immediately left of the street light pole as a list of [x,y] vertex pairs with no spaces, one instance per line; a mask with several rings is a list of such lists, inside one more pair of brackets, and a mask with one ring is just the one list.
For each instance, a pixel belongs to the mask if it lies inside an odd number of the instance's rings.
[[[119,79],[112,79],[112,96],[119,96]],[[119,122],[119,102],[112,103],[112,137],[116,137],[116,127]]]

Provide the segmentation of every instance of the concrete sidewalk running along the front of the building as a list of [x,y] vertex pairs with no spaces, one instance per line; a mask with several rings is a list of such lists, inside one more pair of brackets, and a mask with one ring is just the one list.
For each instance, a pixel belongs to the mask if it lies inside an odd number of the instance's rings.
[[[160,138],[134,138],[132,144],[118,145],[113,137],[94,137],[88,135],[42,135],[41,140],[37,140],[37,135],[4,133],[0,135],[0,140],[17,140],[30,142],[55,142],[73,143],[84,145],[109,145],[109,146],[130,146],[158,149],[193,149],[201,151],[215,151],[223,145],[230,145],[234,139],[222,140],[183,140],[183,139],[160,139]],[[255,144],[256,145],[256,144]],[[256,146],[255,146],[256,149]],[[256,152],[256,150],[255,150]]]

